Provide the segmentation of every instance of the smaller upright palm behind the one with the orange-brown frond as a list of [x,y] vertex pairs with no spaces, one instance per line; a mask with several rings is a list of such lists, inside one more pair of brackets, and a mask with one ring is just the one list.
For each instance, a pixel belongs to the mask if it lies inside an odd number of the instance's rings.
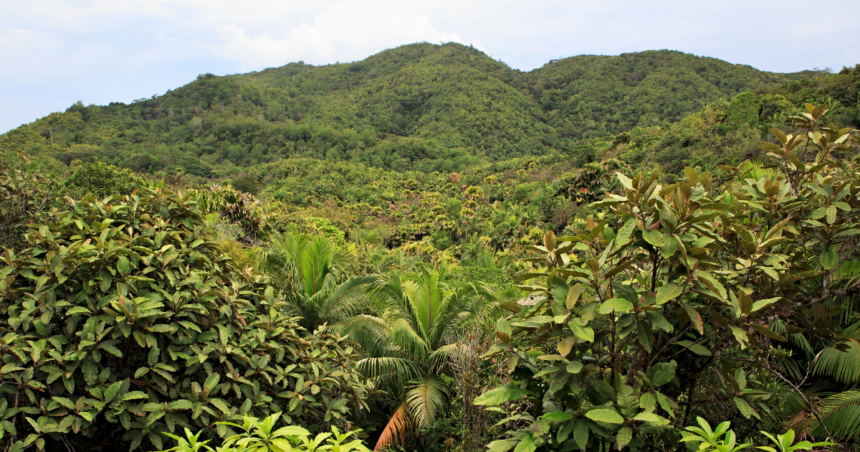
[[365,304],[365,290],[379,284],[376,275],[347,277],[346,262],[327,237],[292,231],[276,235],[261,253],[257,270],[268,274],[300,324],[315,330],[343,322]]

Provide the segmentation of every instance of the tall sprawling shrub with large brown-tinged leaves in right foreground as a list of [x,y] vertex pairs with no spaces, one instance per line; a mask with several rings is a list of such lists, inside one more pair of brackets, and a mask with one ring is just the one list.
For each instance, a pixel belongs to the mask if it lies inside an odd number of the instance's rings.
[[[785,333],[839,344],[830,317],[840,310],[824,302],[860,287],[830,284],[857,258],[860,177],[834,158],[852,149],[854,132],[820,127],[826,111],[808,105],[793,118],[808,135],[774,129],[779,144],[762,144],[781,171],[753,179],[726,168],[738,175],[729,190],[691,168],[670,185],[658,172],[618,173],[624,194],[595,203],[612,210],[608,220],[589,218],[572,236],[545,235],[534,247],[543,255],[532,259],[543,269],[519,277],[537,281],[520,286],[534,295],[505,306],[515,316],[498,322],[501,342],[491,352],[510,356],[518,381],[476,402],[528,396],[540,408],[507,413],[531,425],[491,450],[671,443],[679,439],[667,428],[678,401],[686,422],[694,395],[759,418],[769,394],[748,387],[747,375],[764,369],[784,379],[773,361],[784,356],[774,344]],[[814,158],[798,152],[801,143]]]

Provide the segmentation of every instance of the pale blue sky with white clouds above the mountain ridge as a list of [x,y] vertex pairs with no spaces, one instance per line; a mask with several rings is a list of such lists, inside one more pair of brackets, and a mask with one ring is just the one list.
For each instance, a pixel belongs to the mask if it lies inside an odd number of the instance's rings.
[[471,44],[551,59],[680,50],[774,72],[860,63],[857,0],[0,0],[0,133],[77,101],[163,94],[211,72]]

